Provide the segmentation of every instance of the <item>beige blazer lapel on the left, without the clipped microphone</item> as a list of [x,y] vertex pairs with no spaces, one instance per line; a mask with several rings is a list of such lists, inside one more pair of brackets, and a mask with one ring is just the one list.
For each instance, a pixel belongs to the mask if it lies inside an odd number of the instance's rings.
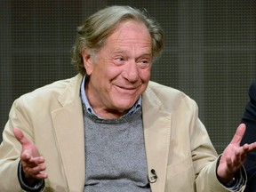
[[81,79],[76,78],[75,84],[70,84],[70,89],[60,96],[63,107],[52,112],[56,141],[70,192],[84,190],[84,120],[78,91],[80,83]]

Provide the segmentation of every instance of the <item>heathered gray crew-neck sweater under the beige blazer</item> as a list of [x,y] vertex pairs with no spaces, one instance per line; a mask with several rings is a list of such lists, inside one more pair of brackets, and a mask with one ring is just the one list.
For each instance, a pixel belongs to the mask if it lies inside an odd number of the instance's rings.
[[141,109],[107,120],[84,109],[84,132],[84,191],[150,191]]

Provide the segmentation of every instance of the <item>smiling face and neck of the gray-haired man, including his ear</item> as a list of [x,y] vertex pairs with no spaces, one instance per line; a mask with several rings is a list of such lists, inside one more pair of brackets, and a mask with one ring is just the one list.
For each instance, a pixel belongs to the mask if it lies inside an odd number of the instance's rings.
[[90,76],[85,91],[98,116],[122,116],[146,90],[151,46],[151,37],[144,24],[124,21],[108,36],[95,60],[83,52],[84,67]]

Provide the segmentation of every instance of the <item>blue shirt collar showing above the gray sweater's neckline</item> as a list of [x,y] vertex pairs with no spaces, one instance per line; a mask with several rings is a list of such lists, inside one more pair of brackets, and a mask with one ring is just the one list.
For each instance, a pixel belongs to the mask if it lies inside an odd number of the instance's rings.
[[[92,106],[90,105],[87,96],[85,94],[85,83],[86,83],[86,76],[84,76],[81,87],[80,87],[80,97],[82,102],[84,103],[85,108],[87,109],[87,111],[93,115],[93,116],[97,116],[96,113],[93,111]],[[142,103],[142,97],[140,95],[139,100],[137,100],[135,102],[135,104],[132,106],[132,108],[126,113],[124,114],[124,116],[121,116],[121,118],[125,117],[125,116],[132,116],[136,111],[138,111],[141,108],[141,103]],[[100,116],[97,116],[98,118],[100,118]]]

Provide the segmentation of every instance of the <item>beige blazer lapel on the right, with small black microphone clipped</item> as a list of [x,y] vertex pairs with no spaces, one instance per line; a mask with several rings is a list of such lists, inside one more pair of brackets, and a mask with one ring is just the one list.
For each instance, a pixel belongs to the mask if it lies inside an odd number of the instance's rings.
[[148,177],[154,176],[151,172],[154,169],[157,179],[156,182],[150,183],[150,187],[156,192],[164,192],[172,121],[172,114],[161,111],[160,106],[160,100],[148,89],[143,94],[143,126]]

